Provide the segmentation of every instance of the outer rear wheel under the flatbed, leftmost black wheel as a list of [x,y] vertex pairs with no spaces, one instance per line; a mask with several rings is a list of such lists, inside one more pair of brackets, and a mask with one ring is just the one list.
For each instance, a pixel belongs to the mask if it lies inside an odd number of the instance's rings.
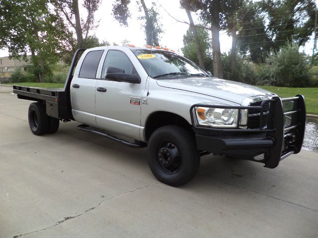
[[47,132],[49,122],[45,106],[41,103],[31,103],[29,107],[29,125],[33,134],[43,135]]

